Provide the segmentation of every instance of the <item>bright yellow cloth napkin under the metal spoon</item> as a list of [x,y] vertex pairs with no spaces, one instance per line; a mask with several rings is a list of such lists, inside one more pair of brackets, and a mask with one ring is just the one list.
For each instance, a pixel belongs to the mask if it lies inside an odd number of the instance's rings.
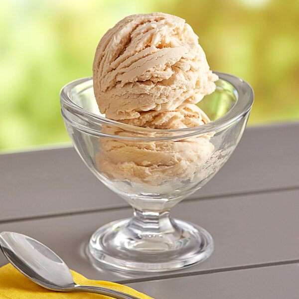
[[[92,281],[81,274],[71,271],[76,284],[85,286],[99,286],[114,289],[133,295],[140,299],[151,299],[149,296],[135,291],[129,287],[103,281]],[[74,293],[74,292],[54,292],[44,289],[31,282],[27,277],[19,273],[11,264],[0,268],[0,299],[108,299],[110,297],[91,294],[91,293]]]

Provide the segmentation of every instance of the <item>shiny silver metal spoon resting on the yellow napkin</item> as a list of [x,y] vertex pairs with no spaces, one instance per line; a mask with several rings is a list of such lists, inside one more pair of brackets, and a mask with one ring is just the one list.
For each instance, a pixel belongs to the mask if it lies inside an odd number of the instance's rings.
[[77,285],[70,269],[44,244],[14,232],[0,233],[0,248],[7,260],[34,283],[52,291],[87,292],[116,299],[138,299],[119,291],[102,287]]

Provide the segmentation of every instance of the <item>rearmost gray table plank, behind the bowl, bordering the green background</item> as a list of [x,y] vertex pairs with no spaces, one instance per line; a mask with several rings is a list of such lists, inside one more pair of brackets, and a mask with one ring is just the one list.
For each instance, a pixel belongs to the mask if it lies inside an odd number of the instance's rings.
[[[299,123],[248,128],[228,162],[190,198],[299,186],[298,148]],[[73,148],[0,155],[0,220],[126,205]]]

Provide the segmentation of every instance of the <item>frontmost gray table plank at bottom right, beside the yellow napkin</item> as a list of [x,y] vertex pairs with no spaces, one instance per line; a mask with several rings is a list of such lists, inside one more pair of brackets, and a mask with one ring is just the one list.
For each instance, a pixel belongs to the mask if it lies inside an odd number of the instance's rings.
[[128,286],[154,299],[298,299],[299,264],[188,276]]

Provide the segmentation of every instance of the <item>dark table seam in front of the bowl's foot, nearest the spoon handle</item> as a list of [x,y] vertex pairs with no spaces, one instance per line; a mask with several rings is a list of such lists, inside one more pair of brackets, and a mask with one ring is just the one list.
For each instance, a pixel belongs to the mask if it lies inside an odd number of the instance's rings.
[[209,270],[201,270],[201,271],[195,271],[195,272],[174,273],[174,274],[168,274],[168,275],[163,275],[163,276],[152,276],[152,277],[145,277],[145,278],[116,280],[114,282],[124,285],[124,284],[132,284],[132,283],[149,282],[149,281],[154,281],[154,280],[164,280],[164,279],[171,279],[171,278],[188,277],[188,276],[205,275],[205,274],[214,274],[214,273],[225,273],[225,272],[238,271],[238,270],[266,268],[266,267],[291,265],[291,264],[298,264],[298,263],[299,263],[299,259],[297,259],[297,260],[288,260],[288,261],[279,261],[279,262],[270,262],[270,263],[261,263],[261,264],[253,264],[253,265],[244,265],[244,266],[234,266],[234,267],[219,268],[219,269],[209,269]]

